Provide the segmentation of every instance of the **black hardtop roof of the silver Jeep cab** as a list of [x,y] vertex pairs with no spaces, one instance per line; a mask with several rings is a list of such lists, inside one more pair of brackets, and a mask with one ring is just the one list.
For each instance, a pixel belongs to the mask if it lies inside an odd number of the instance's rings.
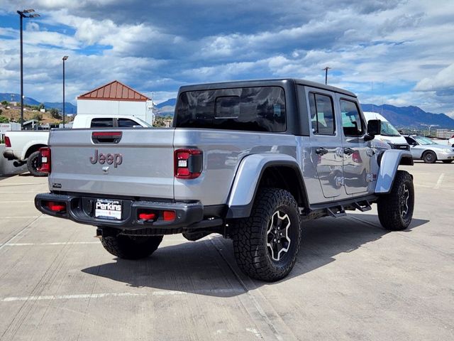
[[340,87],[333,87],[331,85],[324,85],[318,82],[311,82],[310,80],[299,80],[295,78],[279,78],[279,79],[269,79],[269,80],[235,80],[230,82],[217,82],[217,83],[205,83],[205,84],[196,84],[196,85],[184,85],[179,88],[179,92],[187,91],[200,91],[200,90],[216,90],[216,89],[226,89],[232,87],[257,87],[257,86],[272,86],[272,85],[282,85],[285,82],[293,82],[294,84],[306,85],[308,87],[316,87],[321,90],[328,90],[332,92],[338,92],[340,94],[346,94],[351,97],[356,97],[353,92],[348,90],[343,90]]

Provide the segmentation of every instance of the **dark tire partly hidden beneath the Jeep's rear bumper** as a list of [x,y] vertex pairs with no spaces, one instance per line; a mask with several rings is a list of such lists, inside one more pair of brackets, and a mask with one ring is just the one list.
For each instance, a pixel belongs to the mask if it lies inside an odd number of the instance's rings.
[[121,259],[141,259],[150,256],[162,242],[162,236],[129,237],[118,234],[116,237],[101,237],[104,249]]

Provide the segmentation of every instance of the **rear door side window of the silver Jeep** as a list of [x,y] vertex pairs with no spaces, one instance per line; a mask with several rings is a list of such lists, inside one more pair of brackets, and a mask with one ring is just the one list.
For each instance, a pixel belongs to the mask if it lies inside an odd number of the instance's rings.
[[314,134],[334,135],[333,99],[325,94],[309,92],[309,107],[311,109],[311,124]]

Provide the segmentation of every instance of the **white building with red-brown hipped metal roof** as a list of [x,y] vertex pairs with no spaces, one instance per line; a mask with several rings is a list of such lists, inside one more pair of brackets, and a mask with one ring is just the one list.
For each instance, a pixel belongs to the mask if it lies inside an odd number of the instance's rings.
[[114,80],[77,97],[77,114],[132,115],[153,124],[153,101]]

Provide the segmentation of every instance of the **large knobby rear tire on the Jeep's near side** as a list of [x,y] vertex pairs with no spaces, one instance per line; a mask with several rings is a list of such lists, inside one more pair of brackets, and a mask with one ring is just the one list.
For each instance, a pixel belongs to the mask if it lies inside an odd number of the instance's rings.
[[[267,247],[272,217],[276,214],[287,215],[284,224],[288,226],[286,231],[290,239],[288,251],[282,253],[281,259],[281,251],[278,252],[278,261],[272,259],[272,251]],[[250,217],[236,220],[231,225],[236,262],[245,274],[261,281],[278,281],[292,271],[301,242],[301,219],[297,202],[287,190],[259,190]]]

